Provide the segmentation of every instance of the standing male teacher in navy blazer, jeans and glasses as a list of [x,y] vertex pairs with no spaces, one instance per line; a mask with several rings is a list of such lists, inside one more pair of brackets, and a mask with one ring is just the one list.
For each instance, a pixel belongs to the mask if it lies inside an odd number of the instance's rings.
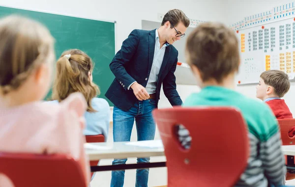
[[[181,10],[168,11],[161,27],[154,30],[133,30],[110,64],[115,80],[106,97],[114,104],[114,141],[130,141],[136,122],[137,138],[152,140],[155,122],[152,110],[157,107],[160,90],[172,106],[182,104],[176,90],[174,72],[178,52],[172,44],[185,36],[190,21]],[[115,159],[113,165],[127,159]],[[138,158],[137,162],[149,162]],[[148,187],[148,169],[137,169],[136,187]],[[112,171],[111,187],[123,187],[125,171]]]

